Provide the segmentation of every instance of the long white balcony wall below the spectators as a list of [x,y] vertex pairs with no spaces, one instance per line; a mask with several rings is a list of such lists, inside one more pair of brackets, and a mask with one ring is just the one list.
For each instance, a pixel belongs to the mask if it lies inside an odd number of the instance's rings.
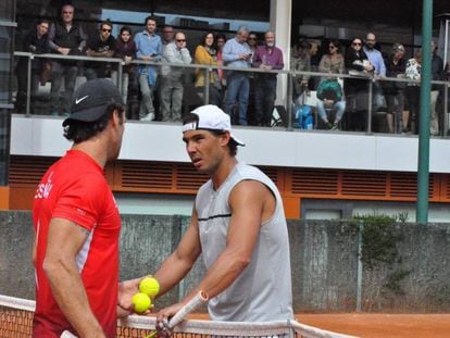
[[[11,154],[61,157],[71,143],[62,136],[61,117],[12,116]],[[247,146],[238,158],[249,164],[368,171],[417,171],[417,137],[346,132],[236,127]],[[189,162],[182,127],[172,123],[127,122],[122,160]],[[450,140],[432,139],[432,173],[450,173]]]

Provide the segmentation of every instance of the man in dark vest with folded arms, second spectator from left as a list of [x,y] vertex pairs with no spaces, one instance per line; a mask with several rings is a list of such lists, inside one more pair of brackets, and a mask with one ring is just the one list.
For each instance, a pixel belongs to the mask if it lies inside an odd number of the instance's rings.
[[[61,21],[50,25],[49,46],[52,52],[61,55],[80,55],[86,45],[83,27],[74,22],[75,8],[64,4],[61,9]],[[53,59],[51,75],[51,108],[53,115],[65,115],[70,111],[70,102],[74,93],[78,74],[76,61]],[[64,93],[61,98],[61,85],[64,76]]]

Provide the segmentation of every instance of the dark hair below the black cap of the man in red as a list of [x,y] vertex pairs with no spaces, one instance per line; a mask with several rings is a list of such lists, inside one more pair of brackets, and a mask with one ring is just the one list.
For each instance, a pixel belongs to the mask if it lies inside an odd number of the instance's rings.
[[84,122],[72,120],[64,128],[64,137],[74,143],[80,143],[103,132],[113,113],[118,112],[118,118],[123,122],[125,108],[120,103],[110,103],[104,109],[103,115],[95,122]]

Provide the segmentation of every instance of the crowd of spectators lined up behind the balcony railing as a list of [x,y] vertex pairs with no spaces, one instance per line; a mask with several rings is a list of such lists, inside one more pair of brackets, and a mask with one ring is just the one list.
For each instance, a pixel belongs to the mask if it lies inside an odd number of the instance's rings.
[[[84,76],[87,80],[111,78],[115,84],[121,79],[117,85],[130,120],[179,122],[188,110],[201,105],[208,95],[209,103],[221,107],[235,125],[274,125],[274,112],[279,109],[275,105],[277,71],[287,68],[284,51],[276,46],[275,32],[262,35],[241,26],[229,39],[222,33],[205,32],[191,51],[186,32],[171,25],[159,29],[153,16],[146,17],[141,32],[134,34],[130,27],[121,26],[114,37],[109,21],[101,22],[96,34],[87,36],[74,14],[75,8],[65,4],[58,21],[39,20],[22,46],[23,51],[32,53],[90,57],[88,61],[35,58],[32,62],[32,103],[39,84],[50,82],[52,115],[68,114],[76,79]],[[432,51],[433,79],[448,80],[449,64],[443,64],[434,42]],[[122,60],[121,76],[117,61],[108,62],[111,58]],[[364,39],[351,39],[347,48],[337,39],[317,43],[300,38],[291,49],[289,64],[293,72],[293,114],[302,115],[299,112],[307,111],[303,107],[314,96],[314,107],[308,111],[316,112],[317,128],[365,132],[371,110],[372,114],[383,112],[385,116],[379,132],[417,134],[421,62],[421,48],[408,58],[400,42],[393,43],[389,53],[382,53],[371,32]],[[184,67],[192,63],[211,67]],[[251,68],[258,71],[249,72]],[[27,72],[26,59],[20,58],[17,112],[25,109]],[[313,76],[312,72],[322,74]],[[341,79],[339,74],[351,77]],[[443,97],[443,86],[434,85],[432,135],[447,132]],[[286,114],[282,115],[286,124]]]

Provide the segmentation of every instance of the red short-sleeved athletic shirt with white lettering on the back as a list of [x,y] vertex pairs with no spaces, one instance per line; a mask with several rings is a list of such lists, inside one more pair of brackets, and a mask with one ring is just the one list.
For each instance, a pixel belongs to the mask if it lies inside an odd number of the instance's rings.
[[[51,218],[70,220],[89,230],[76,264],[90,308],[108,337],[116,336],[118,237],[121,218],[102,168],[86,153],[70,150],[45,174],[35,196],[33,223],[36,230],[36,312],[34,337],[76,335],[50,290],[42,262]],[[71,292],[71,290],[67,290]]]

